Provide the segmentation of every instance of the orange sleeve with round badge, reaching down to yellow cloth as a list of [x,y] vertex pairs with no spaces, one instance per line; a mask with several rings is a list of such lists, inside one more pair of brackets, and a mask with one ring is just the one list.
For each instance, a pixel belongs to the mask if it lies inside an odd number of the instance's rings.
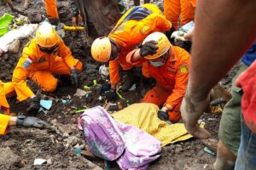
[[189,53],[183,49],[177,49],[177,54],[180,55],[182,59],[177,65],[176,80],[172,94],[166,100],[166,104],[172,105],[172,107],[182,102],[189,80]]

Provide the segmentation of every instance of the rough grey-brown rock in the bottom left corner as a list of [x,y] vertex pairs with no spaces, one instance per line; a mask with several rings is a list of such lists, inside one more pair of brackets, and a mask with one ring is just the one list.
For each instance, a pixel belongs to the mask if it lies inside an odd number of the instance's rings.
[[0,148],[0,169],[15,169],[15,165],[20,165],[20,161],[20,156],[15,155],[9,147]]

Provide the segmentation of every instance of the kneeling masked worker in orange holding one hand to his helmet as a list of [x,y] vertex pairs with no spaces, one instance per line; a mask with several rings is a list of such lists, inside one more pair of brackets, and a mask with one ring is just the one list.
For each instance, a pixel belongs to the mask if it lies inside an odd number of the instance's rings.
[[172,46],[165,34],[154,32],[143,41],[141,48],[131,51],[127,61],[133,65],[148,62],[150,77],[156,81],[154,88],[144,96],[143,102],[154,103],[161,109],[162,120],[178,122],[181,119],[180,105],[189,78],[189,53]]

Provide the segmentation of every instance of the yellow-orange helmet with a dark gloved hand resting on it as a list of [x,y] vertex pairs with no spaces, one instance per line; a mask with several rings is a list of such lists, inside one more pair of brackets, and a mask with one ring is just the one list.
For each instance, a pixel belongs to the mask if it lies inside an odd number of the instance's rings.
[[148,37],[146,37],[144,39],[143,44],[145,42],[148,42],[151,40],[158,42],[158,44],[157,44],[158,49],[156,51],[156,54],[147,55],[144,57],[145,59],[157,59],[160,56],[162,56],[163,54],[166,54],[166,52],[169,50],[169,48],[171,48],[171,42],[168,40],[166,35],[162,32],[153,32],[153,33],[149,34]]

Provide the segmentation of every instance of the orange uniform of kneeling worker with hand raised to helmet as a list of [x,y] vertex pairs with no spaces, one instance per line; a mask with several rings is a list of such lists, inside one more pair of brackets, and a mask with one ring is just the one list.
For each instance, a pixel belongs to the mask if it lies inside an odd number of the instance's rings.
[[[132,63],[131,57],[136,50],[127,55],[129,63]],[[141,65],[147,61],[147,73],[156,80],[155,87],[145,94],[143,102],[154,103],[159,107],[172,105],[172,111],[168,112],[169,120],[178,122],[181,119],[180,105],[188,84],[190,55],[183,48],[176,46],[171,46],[169,54],[166,64],[160,67],[154,67],[148,59],[141,59],[133,65]]]

